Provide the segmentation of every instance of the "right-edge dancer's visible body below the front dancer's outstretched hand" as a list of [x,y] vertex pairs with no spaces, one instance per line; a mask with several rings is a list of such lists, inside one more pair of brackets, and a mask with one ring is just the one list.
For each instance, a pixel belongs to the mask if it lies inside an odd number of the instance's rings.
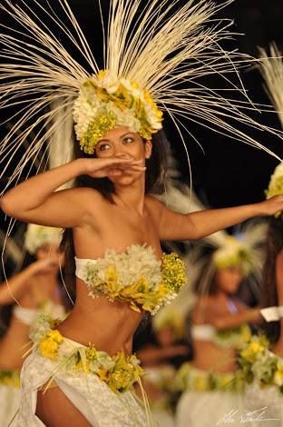
[[[283,221],[271,218],[268,230],[268,253],[264,268],[261,314],[268,322],[265,335],[252,336],[239,353],[239,363],[247,382],[246,419],[255,426],[259,419],[275,427],[283,425],[282,362],[283,362]],[[263,422],[263,421],[262,421]],[[263,422],[264,425],[264,422]]]

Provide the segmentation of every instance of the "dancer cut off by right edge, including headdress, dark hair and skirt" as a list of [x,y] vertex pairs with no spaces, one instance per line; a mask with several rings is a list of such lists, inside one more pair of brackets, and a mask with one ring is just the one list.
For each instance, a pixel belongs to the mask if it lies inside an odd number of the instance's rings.
[[[270,56],[261,50],[261,72],[268,87],[268,93],[278,110],[283,124],[283,63],[276,45],[270,46]],[[278,164],[270,177],[267,197],[283,194],[283,163]],[[278,213],[270,218],[267,241],[267,257],[262,286],[261,314],[267,323],[264,331],[268,336],[253,336],[239,354],[239,362],[248,382],[245,392],[247,412],[245,417],[250,425],[283,425],[283,215]],[[256,396],[256,398],[255,398]]]

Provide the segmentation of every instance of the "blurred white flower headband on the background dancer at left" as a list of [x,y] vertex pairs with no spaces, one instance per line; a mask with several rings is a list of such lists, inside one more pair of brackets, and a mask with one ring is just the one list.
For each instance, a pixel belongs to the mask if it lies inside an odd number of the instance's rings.
[[60,244],[62,229],[29,223],[24,235],[24,247],[32,255],[45,243]]

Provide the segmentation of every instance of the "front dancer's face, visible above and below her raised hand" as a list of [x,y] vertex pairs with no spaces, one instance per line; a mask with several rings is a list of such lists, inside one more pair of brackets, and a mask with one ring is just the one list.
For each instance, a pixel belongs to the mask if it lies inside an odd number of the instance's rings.
[[[107,132],[95,147],[98,158],[118,157],[124,159],[141,160],[144,166],[145,159],[151,156],[151,141],[144,142],[140,134],[130,131],[126,126],[119,126]],[[122,171],[122,174],[110,174],[113,184],[129,185],[144,177],[144,172]]]

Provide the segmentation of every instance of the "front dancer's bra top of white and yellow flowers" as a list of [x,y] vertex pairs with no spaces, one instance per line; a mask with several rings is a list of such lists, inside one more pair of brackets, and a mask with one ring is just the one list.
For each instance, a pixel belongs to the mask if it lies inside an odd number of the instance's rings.
[[136,312],[157,313],[187,282],[176,253],[163,253],[160,261],[145,244],[132,244],[122,253],[110,249],[95,260],[75,258],[75,263],[75,274],[86,283],[90,296],[105,294],[110,301],[130,303]]

